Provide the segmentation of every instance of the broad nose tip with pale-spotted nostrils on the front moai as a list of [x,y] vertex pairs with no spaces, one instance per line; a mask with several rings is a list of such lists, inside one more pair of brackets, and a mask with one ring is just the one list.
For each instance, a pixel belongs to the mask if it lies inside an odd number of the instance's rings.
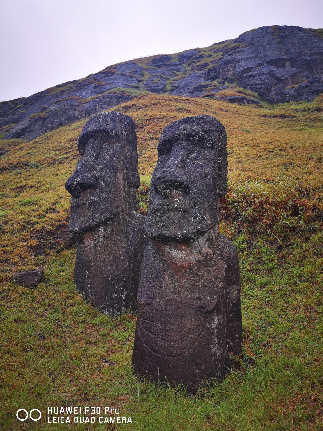
[[171,199],[173,193],[185,194],[189,192],[185,175],[177,175],[176,173],[162,172],[155,178],[153,185],[155,192],[163,199]]

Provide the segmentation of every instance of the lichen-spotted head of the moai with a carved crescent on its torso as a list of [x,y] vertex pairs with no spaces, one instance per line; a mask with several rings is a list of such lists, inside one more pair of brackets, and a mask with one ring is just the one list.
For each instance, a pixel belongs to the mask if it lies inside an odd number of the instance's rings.
[[146,233],[155,240],[183,241],[218,225],[219,197],[227,193],[227,135],[208,115],[167,125],[158,143]]

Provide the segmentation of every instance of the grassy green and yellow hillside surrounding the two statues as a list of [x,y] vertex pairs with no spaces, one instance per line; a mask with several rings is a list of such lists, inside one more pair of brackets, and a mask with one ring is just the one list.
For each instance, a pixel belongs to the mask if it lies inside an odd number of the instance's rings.
[[[195,397],[137,381],[130,367],[136,317],[112,319],[85,303],[72,281],[75,249],[54,237],[68,222],[64,183],[85,121],[29,143],[0,141],[9,150],[0,158],[2,428],[66,429],[46,425],[47,406],[90,405],[130,415],[133,424],[119,429],[321,429],[323,99],[262,107],[142,95],[117,109],[136,122],[143,213],[162,128],[200,114],[225,125],[221,230],[239,250],[243,355],[222,384]],[[13,272],[39,267],[37,289],[11,281]],[[17,424],[22,407],[44,418]],[[109,426],[90,429],[116,428]]]

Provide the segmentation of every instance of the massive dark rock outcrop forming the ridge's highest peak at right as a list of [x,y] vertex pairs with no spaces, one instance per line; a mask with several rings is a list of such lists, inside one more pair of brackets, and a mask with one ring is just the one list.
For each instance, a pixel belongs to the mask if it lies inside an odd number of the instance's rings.
[[323,78],[323,39],[301,27],[260,27],[234,41],[245,44],[217,63],[219,75],[235,77],[240,86],[256,91],[269,103],[311,100],[320,85],[309,85],[304,96],[286,86],[300,84],[315,75]]

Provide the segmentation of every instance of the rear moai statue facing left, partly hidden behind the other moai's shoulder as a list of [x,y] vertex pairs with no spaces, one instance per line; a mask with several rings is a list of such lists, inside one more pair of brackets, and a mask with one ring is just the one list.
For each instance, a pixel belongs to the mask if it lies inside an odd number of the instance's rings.
[[81,159],[65,188],[72,195],[68,230],[76,235],[74,280],[101,312],[137,309],[146,217],[137,213],[137,135],[121,112],[93,116],[78,138]]

